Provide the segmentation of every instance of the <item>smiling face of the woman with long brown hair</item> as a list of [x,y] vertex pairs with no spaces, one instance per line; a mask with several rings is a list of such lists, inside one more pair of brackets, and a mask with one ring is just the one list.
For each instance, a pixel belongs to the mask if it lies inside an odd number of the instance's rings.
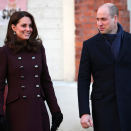
[[12,24],[12,29],[17,37],[27,40],[33,32],[32,21],[29,17],[22,17],[16,26]]

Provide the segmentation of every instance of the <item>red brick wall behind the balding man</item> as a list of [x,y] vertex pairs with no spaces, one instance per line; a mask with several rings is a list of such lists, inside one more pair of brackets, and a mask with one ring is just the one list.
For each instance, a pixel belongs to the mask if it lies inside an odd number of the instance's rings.
[[96,11],[104,3],[113,3],[119,9],[119,23],[123,29],[130,31],[130,14],[127,11],[127,0],[75,0],[75,67],[77,80],[82,44],[98,33]]

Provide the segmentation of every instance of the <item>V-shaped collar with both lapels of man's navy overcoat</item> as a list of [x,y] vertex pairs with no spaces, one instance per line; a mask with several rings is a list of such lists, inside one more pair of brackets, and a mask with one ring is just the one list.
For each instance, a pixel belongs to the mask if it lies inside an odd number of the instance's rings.
[[105,53],[106,56],[108,56],[110,58],[110,60],[112,60],[114,63],[117,63],[121,60],[121,58],[123,57],[123,55],[126,53],[127,49],[129,49],[129,46],[131,45],[131,35],[125,31],[123,31],[123,40],[121,42],[121,48],[120,48],[120,52],[118,54],[117,60],[115,60],[112,52],[110,51],[109,47],[107,46],[104,38],[101,36],[100,33],[98,33],[98,37],[97,37],[97,44],[99,46],[99,48]]

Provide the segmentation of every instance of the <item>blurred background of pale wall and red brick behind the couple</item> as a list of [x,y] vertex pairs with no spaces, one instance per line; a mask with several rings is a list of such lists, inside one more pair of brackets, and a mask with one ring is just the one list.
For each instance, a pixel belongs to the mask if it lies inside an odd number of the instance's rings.
[[[11,2],[16,5],[13,6]],[[80,126],[76,82],[82,43],[98,33],[96,12],[104,3],[113,3],[118,7],[119,23],[125,31],[130,32],[131,1],[0,0],[0,3],[0,46],[4,45],[8,20],[13,11],[30,12],[43,40],[49,72],[64,114],[64,121],[59,130],[85,130]]]

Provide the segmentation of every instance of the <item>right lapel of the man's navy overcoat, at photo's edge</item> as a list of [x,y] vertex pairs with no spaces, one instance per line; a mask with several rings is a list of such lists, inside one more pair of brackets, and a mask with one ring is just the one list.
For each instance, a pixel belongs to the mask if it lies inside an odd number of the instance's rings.
[[116,62],[119,62],[123,55],[126,53],[126,51],[129,49],[129,46],[131,45],[130,37],[131,36],[128,33],[124,32],[123,41],[121,43],[120,52],[118,54]]

